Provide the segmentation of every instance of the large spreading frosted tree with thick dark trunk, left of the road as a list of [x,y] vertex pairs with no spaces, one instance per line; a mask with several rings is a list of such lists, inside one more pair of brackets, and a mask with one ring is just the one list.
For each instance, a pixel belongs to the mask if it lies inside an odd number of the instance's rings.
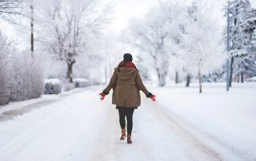
[[[73,65],[79,54],[86,52],[109,16],[109,7],[100,0],[47,1],[42,10],[42,36],[39,37],[50,53],[66,62],[66,78],[72,82]],[[49,5],[50,4],[50,5]]]

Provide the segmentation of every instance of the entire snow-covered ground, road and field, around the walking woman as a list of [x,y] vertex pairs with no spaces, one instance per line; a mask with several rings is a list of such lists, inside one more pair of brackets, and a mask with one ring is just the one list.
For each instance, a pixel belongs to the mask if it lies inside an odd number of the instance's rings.
[[142,94],[131,145],[103,87],[42,104],[0,122],[0,160],[256,160],[256,84],[204,84],[202,95],[183,85],[149,88],[157,102]]

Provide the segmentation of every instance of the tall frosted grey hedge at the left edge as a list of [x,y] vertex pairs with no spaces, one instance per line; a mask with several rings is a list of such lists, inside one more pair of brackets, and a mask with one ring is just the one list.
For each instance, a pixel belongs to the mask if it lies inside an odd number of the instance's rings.
[[42,95],[42,68],[30,51],[14,51],[0,33],[0,105],[29,100]]

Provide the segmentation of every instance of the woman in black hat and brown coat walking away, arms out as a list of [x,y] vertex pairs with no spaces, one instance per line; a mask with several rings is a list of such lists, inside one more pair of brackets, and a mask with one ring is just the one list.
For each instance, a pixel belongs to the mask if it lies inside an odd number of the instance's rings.
[[113,88],[112,104],[116,104],[119,112],[119,123],[121,126],[121,138],[126,139],[126,120],[127,120],[127,143],[132,143],[131,132],[133,129],[133,114],[134,109],[141,104],[141,96],[139,91],[142,90],[146,97],[155,100],[154,95],[148,92],[142,78],[139,75],[138,69],[134,65],[133,57],[130,53],[125,53],[123,61],[117,68],[114,69],[114,74],[110,79],[110,83],[99,95],[101,100],[109,94]]

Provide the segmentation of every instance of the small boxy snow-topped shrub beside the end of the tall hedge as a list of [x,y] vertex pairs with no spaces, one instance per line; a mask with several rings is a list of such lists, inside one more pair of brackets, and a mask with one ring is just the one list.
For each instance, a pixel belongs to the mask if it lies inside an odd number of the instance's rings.
[[57,78],[46,79],[45,94],[58,94],[62,92],[62,81]]

